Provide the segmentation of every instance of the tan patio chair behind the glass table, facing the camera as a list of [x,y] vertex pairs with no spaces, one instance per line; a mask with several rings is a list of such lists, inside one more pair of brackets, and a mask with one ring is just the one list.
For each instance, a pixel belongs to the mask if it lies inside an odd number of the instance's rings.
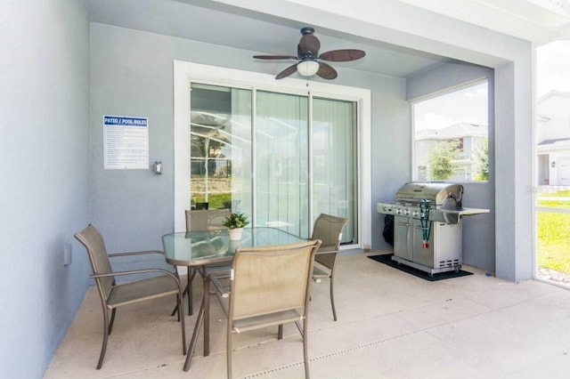
[[[208,204],[208,203],[206,203]],[[223,224],[225,216],[230,214],[230,209],[192,209],[186,212],[186,231],[191,230],[220,230],[225,229]],[[188,291],[188,314],[193,314],[192,308],[192,282],[196,273],[200,276],[206,276],[206,270],[216,270],[220,273],[229,273],[232,267],[227,264],[212,264],[208,268],[204,266],[192,267],[188,266],[188,286],[184,288],[184,292]],[[173,312],[174,315],[174,312]]]

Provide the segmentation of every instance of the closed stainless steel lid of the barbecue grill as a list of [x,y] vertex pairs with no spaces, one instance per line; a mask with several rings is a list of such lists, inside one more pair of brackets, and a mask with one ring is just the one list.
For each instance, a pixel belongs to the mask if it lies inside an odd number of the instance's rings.
[[462,196],[463,186],[460,184],[420,181],[404,184],[398,189],[396,202],[416,204],[427,199],[432,206],[454,209],[461,207]]

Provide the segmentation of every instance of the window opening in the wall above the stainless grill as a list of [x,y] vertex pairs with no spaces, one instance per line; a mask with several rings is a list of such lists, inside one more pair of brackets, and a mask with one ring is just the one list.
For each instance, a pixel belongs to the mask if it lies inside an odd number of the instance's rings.
[[414,181],[487,181],[487,82],[412,103]]

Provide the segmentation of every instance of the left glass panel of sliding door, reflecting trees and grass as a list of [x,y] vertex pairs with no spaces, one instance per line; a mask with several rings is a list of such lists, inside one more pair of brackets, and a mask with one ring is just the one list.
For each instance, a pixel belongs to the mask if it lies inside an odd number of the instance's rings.
[[251,214],[251,91],[191,85],[191,207]]

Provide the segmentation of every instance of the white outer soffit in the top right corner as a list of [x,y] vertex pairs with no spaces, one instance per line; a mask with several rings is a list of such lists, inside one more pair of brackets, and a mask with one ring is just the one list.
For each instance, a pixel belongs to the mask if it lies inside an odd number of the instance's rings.
[[526,41],[570,37],[569,0],[397,1]]

